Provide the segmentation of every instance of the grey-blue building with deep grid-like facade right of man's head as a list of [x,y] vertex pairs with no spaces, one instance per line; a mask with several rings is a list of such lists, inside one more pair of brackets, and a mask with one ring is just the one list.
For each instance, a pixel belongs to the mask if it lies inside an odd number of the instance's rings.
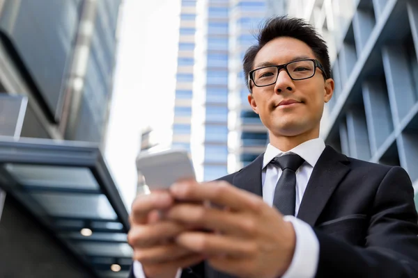
[[417,1],[289,2],[289,14],[315,24],[330,46],[335,90],[325,142],[355,158],[399,165],[417,188]]

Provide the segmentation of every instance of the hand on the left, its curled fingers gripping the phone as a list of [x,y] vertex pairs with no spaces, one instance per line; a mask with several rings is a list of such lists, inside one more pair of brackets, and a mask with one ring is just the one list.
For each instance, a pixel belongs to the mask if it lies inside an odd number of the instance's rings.
[[173,206],[168,191],[153,191],[138,196],[132,204],[128,243],[134,249],[134,261],[139,261],[147,278],[174,278],[178,268],[186,268],[203,260],[174,243],[186,227],[160,218],[160,211]]

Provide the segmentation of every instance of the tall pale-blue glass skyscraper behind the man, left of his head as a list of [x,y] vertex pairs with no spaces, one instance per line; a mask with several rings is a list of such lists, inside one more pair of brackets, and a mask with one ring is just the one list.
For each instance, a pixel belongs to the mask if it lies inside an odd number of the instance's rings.
[[267,10],[265,0],[181,1],[171,140],[144,131],[142,150],[155,147],[150,138],[187,149],[199,181],[239,170],[264,152],[268,133],[248,104],[242,58]]

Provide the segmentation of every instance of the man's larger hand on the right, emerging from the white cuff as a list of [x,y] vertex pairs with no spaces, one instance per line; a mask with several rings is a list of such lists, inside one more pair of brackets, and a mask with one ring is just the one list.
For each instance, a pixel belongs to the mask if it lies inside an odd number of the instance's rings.
[[176,243],[204,254],[217,270],[238,277],[279,277],[295,252],[295,230],[261,197],[224,181],[176,183],[171,195],[179,200],[215,206],[178,204],[166,216],[183,224],[215,231],[183,231]]

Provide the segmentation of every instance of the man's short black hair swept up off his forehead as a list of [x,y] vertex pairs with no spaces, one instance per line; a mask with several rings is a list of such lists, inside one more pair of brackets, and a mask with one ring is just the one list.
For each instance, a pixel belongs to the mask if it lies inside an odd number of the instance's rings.
[[271,40],[280,37],[295,38],[308,44],[312,51],[314,51],[316,59],[323,65],[325,76],[328,78],[331,76],[331,63],[327,44],[311,24],[305,22],[303,19],[295,17],[271,17],[259,28],[258,34],[256,35],[257,44],[249,47],[242,59],[242,67],[247,88],[249,88],[248,74],[254,66],[254,59],[256,58],[258,51]]

